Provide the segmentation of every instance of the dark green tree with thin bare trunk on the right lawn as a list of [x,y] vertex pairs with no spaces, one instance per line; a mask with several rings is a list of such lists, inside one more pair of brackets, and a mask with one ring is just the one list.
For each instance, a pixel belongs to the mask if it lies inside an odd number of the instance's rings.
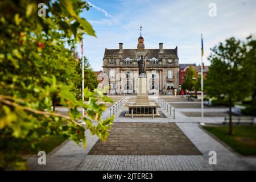
[[211,62],[205,89],[209,96],[229,103],[229,134],[232,135],[232,106],[249,96],[250,72],[245,64],[246,48],[240,40],[230,38],[211,49]]

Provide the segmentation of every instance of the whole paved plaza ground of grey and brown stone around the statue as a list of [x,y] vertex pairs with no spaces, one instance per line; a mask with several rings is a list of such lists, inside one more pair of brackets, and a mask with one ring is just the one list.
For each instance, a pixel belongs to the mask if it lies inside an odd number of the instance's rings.
[[[118,101],[123,96],[118,96]],[[159,107],[166,118],[119,117],[133,103],[135,96],[125,96],[126,104],[116,110],[115,121],[106,143],[86,131],[87,148],[66,141],[50,154],[47,164],[39,165],[38,156],[28,157],[31,170],[255,170],[255,157],[243,157],[226,147],[199,125],[199,108],[175,108],[172,113]],[[185,98],[161,96],[168,104],[198,104]],[[158,96],[150,96],[150,102]],[[172,103],[174,102],[174,103]],[[178,103],[178,104],[179,104]],[[181,103],[180,103],[181,104]],[[111,105],[109,105],[110,107]],[[111,107],[110,107],[111,108]],[[103,113],[108,118],[110,108]],[[113,108],[112,108],[113,109]],[[175,109],[175,118],[174,111]],[[65,111],[64,108],[57,108]],[[113,111],[113,110],[112,110]],[[225,113],[226,108],[207,108],[207,113]],[[188,116],[187,116],[188,115]],[[218,114],[217,114],[218,115]],[[205,117],[205,122],[221,123],[224,117]],[[96,122],[95,122],[96,124]],[[217,164],[210,165],[209,151],[216,151]]]

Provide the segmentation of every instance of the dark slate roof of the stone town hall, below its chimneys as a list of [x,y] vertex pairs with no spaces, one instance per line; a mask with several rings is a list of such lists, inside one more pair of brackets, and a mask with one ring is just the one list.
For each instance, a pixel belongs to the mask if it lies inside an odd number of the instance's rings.
[[[163,49],[163,53],[160,53],[159,49],[144,49],[143,52],[148,52],[148,55],[146,56],[148,59],[151,59],[152,57],[158,58],[159,55],[176,55],[177,51],[176,49]],[[123,49],[122,53],[119,53],[119,49],[105,49],[104,58],[105,57],[111,57],[111,56],[119,56],[122,55],[123,59],[126,59],[127,57],[130,57],[130,59],[138,58],[138,52],[137,49]]]

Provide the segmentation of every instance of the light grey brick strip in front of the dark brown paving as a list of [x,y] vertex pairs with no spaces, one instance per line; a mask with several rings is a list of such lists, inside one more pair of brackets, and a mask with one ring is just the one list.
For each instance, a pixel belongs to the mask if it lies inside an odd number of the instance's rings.
[[212,171],[203,155],[88,155],[76,168],[83,171]]

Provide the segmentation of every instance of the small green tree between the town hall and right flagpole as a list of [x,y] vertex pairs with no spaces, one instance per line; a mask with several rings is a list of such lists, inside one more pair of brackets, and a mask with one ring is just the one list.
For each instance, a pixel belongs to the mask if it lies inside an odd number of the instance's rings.
[[189,67],[184,80],[183,84],[181,84],[181,89],[189,90],[190,92],[197,89],[197,74],[193,67]]

